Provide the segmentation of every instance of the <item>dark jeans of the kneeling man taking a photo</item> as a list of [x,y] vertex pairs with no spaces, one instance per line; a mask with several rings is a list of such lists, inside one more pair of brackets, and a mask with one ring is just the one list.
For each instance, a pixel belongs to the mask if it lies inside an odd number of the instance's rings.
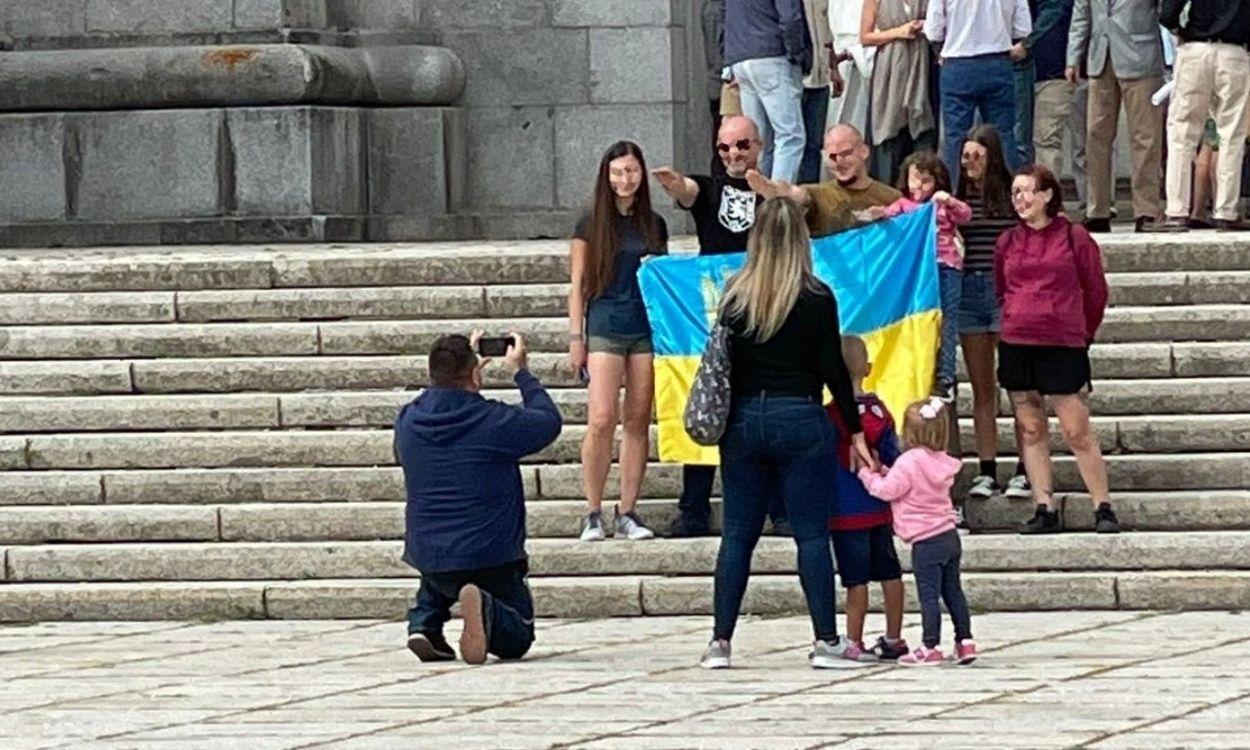
[[486,610],[486,650],[500,659],[520,659],[534,644],[534,598],[525,582],[526,572],[526,560],[478,570],[422,572],[416,602],[408,610],[408,632],[441,634],[460,589],[474,584],[481,589]]

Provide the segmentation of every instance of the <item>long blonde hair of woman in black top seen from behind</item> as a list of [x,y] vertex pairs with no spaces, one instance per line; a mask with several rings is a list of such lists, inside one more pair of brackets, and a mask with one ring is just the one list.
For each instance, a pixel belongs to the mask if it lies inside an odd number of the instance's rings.
[[768,341],[781,330],[799,294],[818,290],[818,284],[802,209],[788,198],[770,198],[755,215],[746,265],[729,280],[721,310],[746,322],[748,338]]

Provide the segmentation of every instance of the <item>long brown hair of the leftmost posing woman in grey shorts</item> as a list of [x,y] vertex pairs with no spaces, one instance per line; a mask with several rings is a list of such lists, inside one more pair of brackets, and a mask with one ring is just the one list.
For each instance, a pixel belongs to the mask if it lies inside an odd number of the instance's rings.
[[648,248],[660,245],[660,226],[651,211],[651,188],[648,184],[646,160],[642,158],[642,149],[632,141],[616,141],[604,151],[604,158],[599,160],[599,176],[595,178],[595,192],[590,204],[590,231],[586,251],[586,268],[581,275],[581,292],[585,299],[591,300],[604,292],[612,282],[616,272],[618,238],[614,231],[614,220],[620,212],[616,210],[616,194],[609,179],[612,161],[621,156],[632,156],[642,170],[642,181],[634,194],[632,212],[629,220],[634,224]]

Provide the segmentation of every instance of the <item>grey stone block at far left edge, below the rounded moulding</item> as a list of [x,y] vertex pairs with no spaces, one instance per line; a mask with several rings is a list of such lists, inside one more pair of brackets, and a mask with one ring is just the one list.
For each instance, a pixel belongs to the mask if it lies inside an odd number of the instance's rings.
[[0,221],[65,218],[65,119],[0,118]]

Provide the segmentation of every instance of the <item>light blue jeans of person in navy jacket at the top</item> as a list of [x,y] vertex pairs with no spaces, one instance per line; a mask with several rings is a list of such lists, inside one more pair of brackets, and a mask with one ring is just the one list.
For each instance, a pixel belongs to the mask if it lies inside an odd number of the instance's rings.
[[802,71],[785,58],[734,64],[742,114],[760,129],[760,174],[794,182],[802,162]]

